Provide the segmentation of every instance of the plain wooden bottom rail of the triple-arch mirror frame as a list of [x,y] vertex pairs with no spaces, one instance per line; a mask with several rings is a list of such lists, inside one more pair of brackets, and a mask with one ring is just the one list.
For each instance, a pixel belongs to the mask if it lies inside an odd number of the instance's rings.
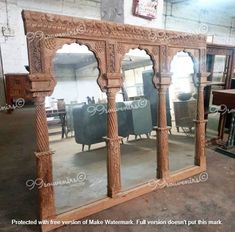
[[42,232],[51,231],[53,229],[63,226],[64,225],[63,221],[67,222],[67,221],[73,221],[73,220],[80,220],[94,213],[100,212],[101,210],[111,208],[115,205],[124,203],[136,197],[142,196],[146,193],[150,193],[150,192],[165,188],[169,184],[174,184],[176,182],[185,180],[189,177],[195,176],[204,171],[205,169],[199,166],[193,166],[187,169],[181,169],[177,172],[173,172],[171,176],[169,176],[166,179],[150,180],[147,183],[137,186],[131,190],[120,192],[119,194],[116,195],[115,198],[107,197],[102,200],[91,203],[89,205],[85,205],[83,207],[74,209],[72,211],[59,214],[56,217],[48,218],[47,219],[48,221],[50,220],[55,221],[55,224],[50,223],[50,224],[42,225],[41,230]]

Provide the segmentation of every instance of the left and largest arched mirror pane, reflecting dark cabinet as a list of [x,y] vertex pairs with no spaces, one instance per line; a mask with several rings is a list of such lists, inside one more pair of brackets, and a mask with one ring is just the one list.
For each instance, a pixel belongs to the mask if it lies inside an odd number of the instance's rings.
[[[57,85],[46,99],[57,213],[105,198],[106,96],[96,57],[87,46],[65,44],[53,59]],[[103,109],[103,111],[102,111]]]

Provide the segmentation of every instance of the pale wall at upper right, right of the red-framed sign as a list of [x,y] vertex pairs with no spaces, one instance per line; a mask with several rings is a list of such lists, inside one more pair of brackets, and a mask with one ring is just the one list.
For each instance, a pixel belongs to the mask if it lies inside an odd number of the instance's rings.
[[[164,5],[164,28],[213,37],[214,43],[235,45],[235,7],[214,1],[185,1]],[[204,1],[206,3],[206,1]],[[218,2],[218,1],[217,1]],[[227,1],[229,4],[229,1]],[[210,4],[209,4],[210,3]],[[232,3],[232,1],[231,1]]]

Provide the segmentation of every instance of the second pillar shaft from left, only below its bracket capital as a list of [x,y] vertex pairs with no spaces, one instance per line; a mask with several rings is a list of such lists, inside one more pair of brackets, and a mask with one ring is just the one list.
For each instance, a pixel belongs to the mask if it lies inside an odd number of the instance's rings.
[[117,88],[109,88],[107,91],[107,171],[109,197],[114,197],[121,190],[120,137],[118,136],[116,110],[116,93],[118,90]]

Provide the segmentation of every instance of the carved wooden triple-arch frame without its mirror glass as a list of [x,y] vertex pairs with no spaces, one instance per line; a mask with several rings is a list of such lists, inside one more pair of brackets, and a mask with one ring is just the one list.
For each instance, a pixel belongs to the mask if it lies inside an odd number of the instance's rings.
[[[56,81],[52,59],[64,44],[85,44],[94,52],[99,66],[98,84],[107,94],[107,198],[72,211],[56,215],[53,186],[39,189],[40,219],[76,220],[142,194],[162,188],[161,183],[173,183],[206,170],[205,121],[203,91],[207,83],[206,38],[202,35],[156,30],[75,17],[23,11],[28,43],[30,92],[36,107],[37,177],[44,183],[52,180],[52,151],[49,148],[45,97],[53,92]],[[153,83],[158,97],[157,173],[154,186],[149,183],[121,191],[120,138],[117,130],[115,96],[122,85],[121,61],[130,48],[144,49],[153,61]],[[198,104],[195,119],[195,166],[175,173],[169,172],[168,127],[166,120],[166,90],[171,82],[170,61],[178,51],[185,51],[197,61]],[[49,231],[62,224],[42,225]]]

